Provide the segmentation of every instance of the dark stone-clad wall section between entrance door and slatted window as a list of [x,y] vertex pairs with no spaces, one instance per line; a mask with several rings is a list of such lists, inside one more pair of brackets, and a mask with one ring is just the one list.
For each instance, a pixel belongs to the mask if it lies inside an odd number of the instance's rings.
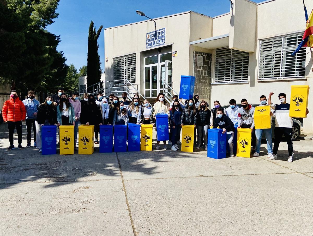
[[[203,56],[203,65],[197,65],[198,56]],[[205,52],[194,53],[193,76],[196,77],[193,94],[198,94],[199,99],[209,100],[211,95],[211,61],[212,54]]]

